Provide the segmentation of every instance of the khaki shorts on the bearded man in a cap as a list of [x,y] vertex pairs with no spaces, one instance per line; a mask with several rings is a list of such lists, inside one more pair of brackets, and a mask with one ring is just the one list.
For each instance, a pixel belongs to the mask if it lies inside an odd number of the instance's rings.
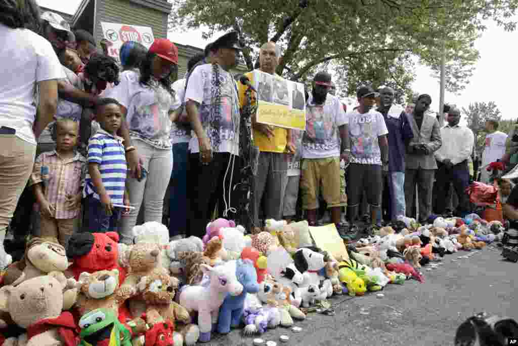
[[346,205],[341,193],[340,158],[304,159],[300,173],[300,192],[304,210],[317,208],[318,191],[327,203],[327,207]]

